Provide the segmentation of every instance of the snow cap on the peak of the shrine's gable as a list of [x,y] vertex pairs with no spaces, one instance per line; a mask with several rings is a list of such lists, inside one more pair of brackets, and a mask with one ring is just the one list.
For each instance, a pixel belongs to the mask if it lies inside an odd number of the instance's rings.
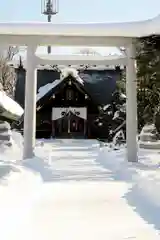
[[80,78],[78,71],[75,68],[64,68],[61,71],[61,79],[64,80],[65,78],[67,78],[68,76],[72,76],[73,78],[75,78],[79,83],[84,84],[84,81],[82,78]]

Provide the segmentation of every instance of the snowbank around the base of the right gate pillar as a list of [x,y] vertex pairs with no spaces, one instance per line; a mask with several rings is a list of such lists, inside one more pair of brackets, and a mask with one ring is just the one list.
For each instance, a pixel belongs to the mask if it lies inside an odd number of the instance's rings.
[[[106,161],[102,163],[116,174],[116,178],[134,182],[133,193],[147,201],[152,207],[160,207],[160,153],[157,150],[139,149],[139,162],[126,160],[126,149],[103,147]],[[140,204],[140,202],[138,203]],[[144,203],[142,203],[143,205]]]

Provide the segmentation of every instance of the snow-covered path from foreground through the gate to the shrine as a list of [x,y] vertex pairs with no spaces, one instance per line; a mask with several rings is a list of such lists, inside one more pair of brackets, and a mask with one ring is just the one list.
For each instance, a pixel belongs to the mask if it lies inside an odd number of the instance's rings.
[[36,154],[24,165],[43,181],[21,214],[20,228],[4,240],[159,239],[125,197],[134,181],[116,176],[109,167],[114,159],[96,141],[39,142]]

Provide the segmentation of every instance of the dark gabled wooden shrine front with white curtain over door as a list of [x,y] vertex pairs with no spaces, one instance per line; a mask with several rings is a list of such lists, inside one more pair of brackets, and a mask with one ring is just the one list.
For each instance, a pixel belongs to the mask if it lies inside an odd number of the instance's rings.
[[94,138],[98,105],[83,85],[69,76],[37,102],[37,138]]

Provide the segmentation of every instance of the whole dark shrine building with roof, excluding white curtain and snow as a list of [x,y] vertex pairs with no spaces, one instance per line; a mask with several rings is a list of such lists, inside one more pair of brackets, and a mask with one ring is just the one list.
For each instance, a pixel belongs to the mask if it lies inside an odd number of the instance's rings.
[[[83,74],[96,71],[84,71]],[[97,73],[96,73],[97,74]],[[98,126],[99,107],[110,103],[120,71],[104,70],[99,79],[80,84],[72,76],[59,81],[37,101],[37,138],[107,138],[108,127]],[[38,89],[59,79],[56,71],[38,71]],[[25,70],[17,69],[15,100],[24,106]],[[21,94],[20,94],[21,92]],[[23,119],[19,128],[23,131]]]

